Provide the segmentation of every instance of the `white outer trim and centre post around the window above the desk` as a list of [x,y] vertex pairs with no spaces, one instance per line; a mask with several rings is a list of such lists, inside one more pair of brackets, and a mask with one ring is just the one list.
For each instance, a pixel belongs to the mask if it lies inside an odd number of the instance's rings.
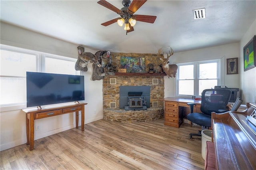
[[[224,58],[224,57],[222,57]],[[205,60],[205,61],[194,61],[194,62],[188,62],[188,63],[177,63],[178,66],[180,65],[194,65],[194,80],[195,80],[195,85],[194,85],[194,93],[198,94],[198,82],[199,82],[199,68],[198,65],[202,63],[212,63],[212,62],[217,62],[218,63],[218,68],[217,68],[217,85],[222,85],[222,82],[224,82],[224,77],[221,76],[221,73],[224,71],[222,70],[222,59],[212,59],[212,60]],[[184,98],[191,98],[194,95],[179,95],[178,94],[178,72],[176,75],[176,79],[174,80],[174,89],[176,89],[176,97],[184,97]]]

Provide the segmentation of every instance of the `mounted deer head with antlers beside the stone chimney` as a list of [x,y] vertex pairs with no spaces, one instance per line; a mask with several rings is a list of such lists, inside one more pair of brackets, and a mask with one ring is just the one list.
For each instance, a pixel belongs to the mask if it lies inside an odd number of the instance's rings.
[[163,62],[162,63],[162,68],[168,78],[170,77],[176,77],[178,65],[176,64],[169,64],[169,57],[173,55],[173,49],[171,48],[171,51],[169,50],[170,55],[167,53],[167,58],[164,58],[164,53],[162,53],[162,48],[158,49],[158,56],[160,56],[160,60]]

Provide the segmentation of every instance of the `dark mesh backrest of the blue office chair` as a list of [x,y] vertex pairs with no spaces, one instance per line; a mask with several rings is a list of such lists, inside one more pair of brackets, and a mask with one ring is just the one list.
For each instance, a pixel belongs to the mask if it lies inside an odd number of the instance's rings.
[[211,115],[212,112],[219,113],[219,109],[226,109],[231,93],[232,92],[228,89],[203,90],[200,107],[201,112],[206,115]]

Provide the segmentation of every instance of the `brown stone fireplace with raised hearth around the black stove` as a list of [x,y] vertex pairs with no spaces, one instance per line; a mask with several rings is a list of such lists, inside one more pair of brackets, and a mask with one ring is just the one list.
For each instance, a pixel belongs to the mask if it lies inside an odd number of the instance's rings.
[[[160,60],[156,54],[137,54],[137,53],[111,53],[112,63],[116,62],[116,65],[120,62],[121,56],[135,56],[145,57],[146,62],[159,65]],[[159,60],[159,63],[157,61]],[[148,65],[146,63],[146,65]],[[146,68],[146,70],[148,70]],[[112,82],[112,80],[114,80]],[[154,83],[157,80],[157,83]],[[131,87],[132,89],[126,90],[125,97],[122,94],[124,87]],[[142,89],[140,89],[142,87]],[[139,90],[137,89],[139,88]],[[121,89],[121,92],[120,92]],[[148,89],[148,92],[145,91]],[[135,99],[134,95],[138,95],[137,92],[142,92],[143,98],[145,97],[146,109],[142,110],[133,108],[132,110],[125,110],[124,106],[128,105],[129,98],[128,92],[136,92],[130,96],[134,99],[134,107],[138,106],[138,103],[143,104],[144,101]],[[120,99],[126,98],[122,102]],[[138,97],[141,98],[141,97]],[[138,74],[122,75],[117,74],[114,76],[106,76],[103,79],[103,119],[115,121],[115,122],[145,122],[160,119],[164,117],[164,75],[157,74]],[[137,103],[137,104],[135,104]],[[135,110],[134,110],[135,109]]]

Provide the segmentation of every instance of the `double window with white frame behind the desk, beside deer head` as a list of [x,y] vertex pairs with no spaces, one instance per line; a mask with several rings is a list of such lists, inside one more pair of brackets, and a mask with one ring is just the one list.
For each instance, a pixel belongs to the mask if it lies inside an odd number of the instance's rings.
[[177,96],[201,96],[204,89],[214,89],[220,82],[220,61],[178,64]]

